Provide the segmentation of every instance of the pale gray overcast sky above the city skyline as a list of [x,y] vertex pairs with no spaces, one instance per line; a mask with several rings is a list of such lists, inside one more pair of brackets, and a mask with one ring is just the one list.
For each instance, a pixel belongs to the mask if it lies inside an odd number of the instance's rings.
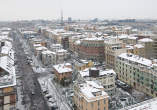
[[0,20],[157,18],[157,0],[0,0]]

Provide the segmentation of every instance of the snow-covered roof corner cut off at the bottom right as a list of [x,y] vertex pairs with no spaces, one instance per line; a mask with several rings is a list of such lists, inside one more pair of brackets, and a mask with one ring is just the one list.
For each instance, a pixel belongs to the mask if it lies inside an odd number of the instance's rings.
[[150,99],[121,110],[156,110],[157,109],[157,98]]

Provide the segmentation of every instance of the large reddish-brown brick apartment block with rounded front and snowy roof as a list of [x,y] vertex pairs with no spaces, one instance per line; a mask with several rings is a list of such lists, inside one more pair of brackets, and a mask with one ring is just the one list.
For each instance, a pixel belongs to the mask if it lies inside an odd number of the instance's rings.
[[97,37],[87,37],[81,40],[78,51],[82,59],[100,61],[104,60],[104,40]]

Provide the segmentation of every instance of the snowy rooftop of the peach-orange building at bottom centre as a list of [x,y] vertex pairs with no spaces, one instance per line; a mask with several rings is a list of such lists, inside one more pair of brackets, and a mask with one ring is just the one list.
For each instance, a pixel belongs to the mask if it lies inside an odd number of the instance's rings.
[[[80,91],[88,102],[108,98],[108,94],[103,91],[103,87],[94,81],[86,81],[86,83],[80,84]],[[96,95],[96,93],[98,94]]]

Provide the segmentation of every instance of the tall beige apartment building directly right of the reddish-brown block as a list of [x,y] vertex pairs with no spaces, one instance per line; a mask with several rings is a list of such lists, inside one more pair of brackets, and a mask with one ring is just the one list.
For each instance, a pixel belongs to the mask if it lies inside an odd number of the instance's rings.
[[125,53],[127,49],[125,47],[125,44],[116,37],[109,37],[105,39],[104,43],[106,64],[108,67],[114,68],[116,63],[116,57],[121,53]]

